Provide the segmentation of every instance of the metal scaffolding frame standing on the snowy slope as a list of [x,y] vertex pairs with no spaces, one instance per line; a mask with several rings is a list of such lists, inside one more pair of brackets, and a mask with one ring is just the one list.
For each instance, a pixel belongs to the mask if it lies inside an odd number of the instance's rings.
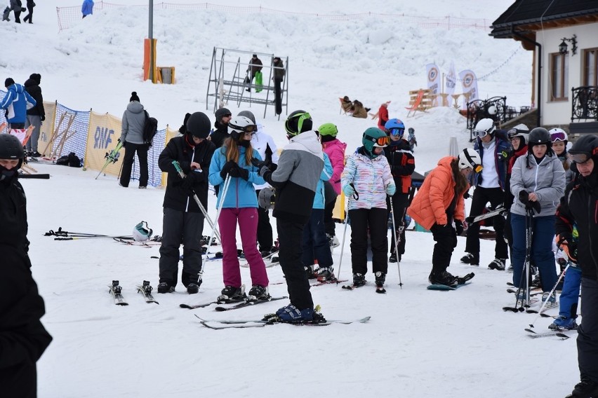
[[[262,60],[263,85],[260,93],[255,92],[257,86],[252,82],[246,83],[249,76],[248,67],[250,64],[246,60],[241,60],[241,55],[258,55]],[[280,57],[284,61],[284,79],[281,83],[281,107],[284,107],[285,114],[288,114],[288,57]],[[267,62],[270,60],[270,62]],[[264,118],[267,109],[271,106],[276,114],[274,106],[274,54],[256,53],[255,51],[233,50],[230,48],[214,47],[212,53],[212,62],[210,65],[210,79],[208,81],[208,90],[206,92],[206,110],[213,97],[213,111],[225,107],[230,101],[237,102],[237,107],[241,102],[264,105]],[[228,80],[227,80],[228,78]],[[246,91],[251,88],[251,91]],[[257,94],[257,95],[255,95]],[[280,115],[278,115],[280,119]]]

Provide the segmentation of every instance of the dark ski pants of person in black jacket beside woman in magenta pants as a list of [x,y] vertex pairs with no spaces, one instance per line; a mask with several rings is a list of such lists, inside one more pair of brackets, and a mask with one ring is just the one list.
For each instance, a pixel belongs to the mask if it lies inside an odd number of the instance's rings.
[[201,271],[201,234],[204,214],[164,207],[160,246],[160,282],[176,286],[179,247],[182,244],[182,284],[197,283]]

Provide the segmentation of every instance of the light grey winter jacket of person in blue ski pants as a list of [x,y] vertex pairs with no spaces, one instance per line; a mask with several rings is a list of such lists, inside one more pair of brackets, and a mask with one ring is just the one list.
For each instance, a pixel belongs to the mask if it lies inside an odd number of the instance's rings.
[[524,216],[525,205],[519,200],[521,191],[538,195],[541,211],[533,217],[554,216],[565,191],[565,170],[559,158],[554,153],[552,156],[546,154],[538,165],[533,154],[528,153],[515,160],[511,174],[511,193],[514,196],[511,212]]

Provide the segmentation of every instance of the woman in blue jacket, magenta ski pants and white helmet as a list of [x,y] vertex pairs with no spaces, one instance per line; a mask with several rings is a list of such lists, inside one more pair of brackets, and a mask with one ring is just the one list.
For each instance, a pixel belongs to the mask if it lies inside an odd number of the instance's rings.
[[[258,198],[253,184],[264,184],[258,175],[258,168],[251,160],[262,160],[258,151],[251,147],[251,136],[258,126],[245,116],[230,120],[230,137],[217,149],[210,163],[209,181],[220,186],[217,207],[221,207],[218,217],[220,238],[222,239],[222,279],[225,288],[218,301],[241,301],[245,297],[241,285],[241,269],[237,257],[237,224],[241,232],[241,245],[251,273],[250,301],[268,300],[268,276],[266,266],[258,247],[255,245],[258,230]],[[230,176],[230,185],[224,192],[224,184]],[[225,196],[224,196],[225,195]]]

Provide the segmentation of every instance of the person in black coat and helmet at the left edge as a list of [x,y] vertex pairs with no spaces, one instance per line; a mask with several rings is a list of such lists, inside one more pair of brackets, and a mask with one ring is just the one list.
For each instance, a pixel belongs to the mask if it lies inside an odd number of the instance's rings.
[[0,395],[34,398],[36,362],[52,341],[41,324],[44,300],[31,274],[27,199],[18,181],[23,151],[17,137],[0,135]]

